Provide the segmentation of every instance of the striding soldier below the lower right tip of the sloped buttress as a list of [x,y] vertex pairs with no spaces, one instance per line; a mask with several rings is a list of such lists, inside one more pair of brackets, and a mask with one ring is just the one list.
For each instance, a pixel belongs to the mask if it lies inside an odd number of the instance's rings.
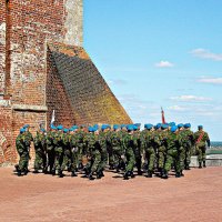
[[124,180],[129,180],[129,176],[134,178],[133,175],[133,167],[135,164],[135,157],[134,157],[134,147],[137,145],[137,141],[133,138],[133,131],[135,129],[135,125],[130,124],[128,125],[128,134],[123,139],[123,145],[124,145],[124,155],[127,159],[127,167],[125,172],[123,175]]

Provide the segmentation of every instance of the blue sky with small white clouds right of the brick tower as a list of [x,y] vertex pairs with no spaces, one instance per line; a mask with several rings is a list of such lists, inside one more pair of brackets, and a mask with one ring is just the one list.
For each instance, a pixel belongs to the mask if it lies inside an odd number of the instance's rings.
[[222,1],[84,0],[84,49],[133,122],[222,141]]

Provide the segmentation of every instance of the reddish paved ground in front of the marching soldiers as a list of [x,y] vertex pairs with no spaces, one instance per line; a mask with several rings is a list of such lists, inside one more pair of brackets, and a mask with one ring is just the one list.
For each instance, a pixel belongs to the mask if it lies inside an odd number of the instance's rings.
[[100,181],[0,169],[0,222],[221,222],[222,168],[192,169],[181,179],[105,173]]

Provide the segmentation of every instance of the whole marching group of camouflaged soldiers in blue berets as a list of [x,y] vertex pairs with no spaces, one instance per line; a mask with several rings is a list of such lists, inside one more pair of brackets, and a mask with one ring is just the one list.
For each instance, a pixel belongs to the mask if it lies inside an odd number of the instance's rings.
[[191,131],[191,124],[158,123],[144,124],[63,125],[50,130],[40,129],[33,138],[24,125],[16,140],[20,160],[17,174],[26,175],[29,170],[30,147],[33,142],[34,171],[63,178],[64,171],[71,176],[83,173],[89,180],[101,179],[103,171],[122,173],[124,180],[138,175],[152,178],[154,174],[168,179],[173,170],[175,176],[183,176],[190,170],[191,155],[196,154],[199,168],[205,168],[205,150],[210,139],[203,127]]

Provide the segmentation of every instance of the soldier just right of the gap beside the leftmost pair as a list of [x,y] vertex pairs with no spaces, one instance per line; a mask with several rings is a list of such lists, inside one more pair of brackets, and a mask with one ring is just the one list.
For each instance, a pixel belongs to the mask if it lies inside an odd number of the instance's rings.
[[34,171],[33,173],[39,173],[39,170],[42,169],[44,173],[47,171],[47,154],[46,154],[46,130],[40,129],[40,132],[37,132],[36,138],[33,139],[36,159],[34,159]]

